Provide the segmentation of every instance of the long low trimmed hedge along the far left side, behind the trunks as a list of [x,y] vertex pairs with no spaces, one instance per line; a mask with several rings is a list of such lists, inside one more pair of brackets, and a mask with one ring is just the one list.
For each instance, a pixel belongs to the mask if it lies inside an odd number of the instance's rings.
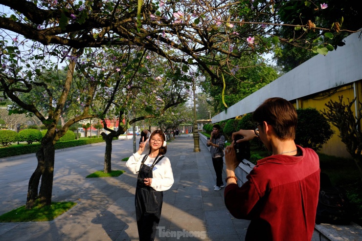
[[[16,133],[16,132],[15,132]],[[103,142],[103,138],[92,138],[92,139],[81,139],[81,140],[72,140],[72,141],[58,141],[55,143],[55,149],[63,149],[68,147],[76,147],[83,146],[93,143]],[[31,145],[22,145],[22,146],[10,146],[6,148],[1,148],[0,150],[0,158],[15,156],[15,155],[23,155],[29,153],[36,153],[40,149],[40,143],[35,143]]]

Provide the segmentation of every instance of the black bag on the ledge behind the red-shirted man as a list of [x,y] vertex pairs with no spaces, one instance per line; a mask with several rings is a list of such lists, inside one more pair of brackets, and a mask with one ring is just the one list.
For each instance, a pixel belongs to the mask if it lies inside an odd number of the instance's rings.
[[328,175],[321,173],[316,223],[349,224],[351,219],[345,191],[332,186]]

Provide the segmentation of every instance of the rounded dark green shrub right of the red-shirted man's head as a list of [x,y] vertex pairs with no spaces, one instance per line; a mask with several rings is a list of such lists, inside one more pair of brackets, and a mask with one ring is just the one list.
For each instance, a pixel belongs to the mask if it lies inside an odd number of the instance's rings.
[[295,144],[319,151],[334,134],[329,122],[317,109],[298,109],[296,113]]

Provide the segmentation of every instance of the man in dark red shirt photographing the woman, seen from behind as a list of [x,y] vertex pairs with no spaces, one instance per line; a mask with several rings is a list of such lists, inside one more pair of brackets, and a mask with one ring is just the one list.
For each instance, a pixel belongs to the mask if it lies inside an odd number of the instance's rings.
[[264,101],[253,113],[255,130],[240,130],[241,141],[259,138],[272,155],[261,159],[237,185],[233,143],[226,148],[225,204],[237,219],[248,219],[246,241],[310,241],[319,192],[319,158],[312,149],[295,145],[297,114],[282,98]]

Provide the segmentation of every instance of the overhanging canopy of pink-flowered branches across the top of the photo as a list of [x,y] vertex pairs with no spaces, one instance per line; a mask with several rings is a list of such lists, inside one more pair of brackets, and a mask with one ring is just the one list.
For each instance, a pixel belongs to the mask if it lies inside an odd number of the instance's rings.
[[[330,39],[353,32],[342,29],[343,19],[317,26],[316,19],[329,6],[311,0],[297,6],[287,0],[139,0],[138,6],[101,0],[0,3],[15,10],[0,18],[0,28],[13,31],[15,41],[23,36],[74,48],[139,46],[170,62],[199,66],[213,84],[234,67],[230,58],[268,53],[280,42],[327,54],[333,50]],[[315,14],[304,16],[303,9]],[[292,29],[293,37],[279,37],[281,26]]]

